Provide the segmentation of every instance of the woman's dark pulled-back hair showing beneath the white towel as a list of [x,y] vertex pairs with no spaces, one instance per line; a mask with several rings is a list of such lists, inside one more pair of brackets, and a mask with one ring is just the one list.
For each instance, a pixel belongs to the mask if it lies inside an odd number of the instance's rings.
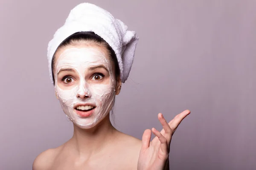
[[117,80],[117,77],[120,76],[120,68],[119,68],[119,65],[118,65],[117,58],[116,58],[116,53],[115,53],[115,51],[113,51],[111,46],[105,40],[103,40],[102,37],[95,34],[94,32],[83,31],[83,32],[76,32],[76,33],[70,35],[69,37],[67,37],[65,40],[63,40],[61,42],[61,44],[58,46],[58,48],[56,49],[55,53],[53,54],[52,65],[51,65],[53,85],[55,85],[55,79],[54,79],[54,75],[53,75],[53,68],[54,68],[54,64],[55,64],[55,54],[56,54],[56,52],[59,49],[66,47],[67,45],[73,45],[73,44],[76,44],[76,42],[82,42],[82,41],[86,41],[89,44],[92,44],[94,42],[94,43],[96,43],[96,45],[104,46],[105,48],[107,48],[108,53],[110,55],[110,58],[114,62],[116,80]]

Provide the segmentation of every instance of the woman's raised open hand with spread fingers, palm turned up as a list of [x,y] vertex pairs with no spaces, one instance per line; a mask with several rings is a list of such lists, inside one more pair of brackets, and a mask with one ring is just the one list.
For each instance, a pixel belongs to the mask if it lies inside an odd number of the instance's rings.
[[166,164],[166,161],[169,158],[172,135],[180,125],[180,122],[189,113],[189,110],[185,110],[176,115],[169,123],[166,122],[162,113],[158,113],[158,119],[163,125],[163,129],[159,132],[152,128],[152,132],[156,137],[151,142],[151,130],[144,131],[137,166],[138,170],[169,170],[169,164]]

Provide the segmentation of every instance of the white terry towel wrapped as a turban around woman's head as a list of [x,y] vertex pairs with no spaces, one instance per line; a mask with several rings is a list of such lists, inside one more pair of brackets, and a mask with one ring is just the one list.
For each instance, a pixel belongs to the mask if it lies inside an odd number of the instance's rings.
[[80,3],[68,15],[64,26],[58,28],[48,44],[47,58],[49,74],[52,80],[52,57],[58,45],[70,35],[81,31],[93,31],[102,37],[116,53],[122,82],[128,78],[139,37],[135,31],[115,19],[108,11],[91,3]]

